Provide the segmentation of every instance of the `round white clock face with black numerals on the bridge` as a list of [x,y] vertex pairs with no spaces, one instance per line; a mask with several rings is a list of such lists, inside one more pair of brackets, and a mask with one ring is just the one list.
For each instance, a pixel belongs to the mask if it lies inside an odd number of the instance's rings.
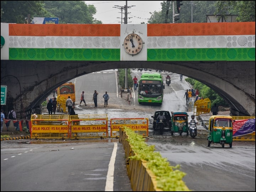
[[130,55],[138,54],[142,50],[142,38],[138,34],[131,33],[124,39],[124,50]]

